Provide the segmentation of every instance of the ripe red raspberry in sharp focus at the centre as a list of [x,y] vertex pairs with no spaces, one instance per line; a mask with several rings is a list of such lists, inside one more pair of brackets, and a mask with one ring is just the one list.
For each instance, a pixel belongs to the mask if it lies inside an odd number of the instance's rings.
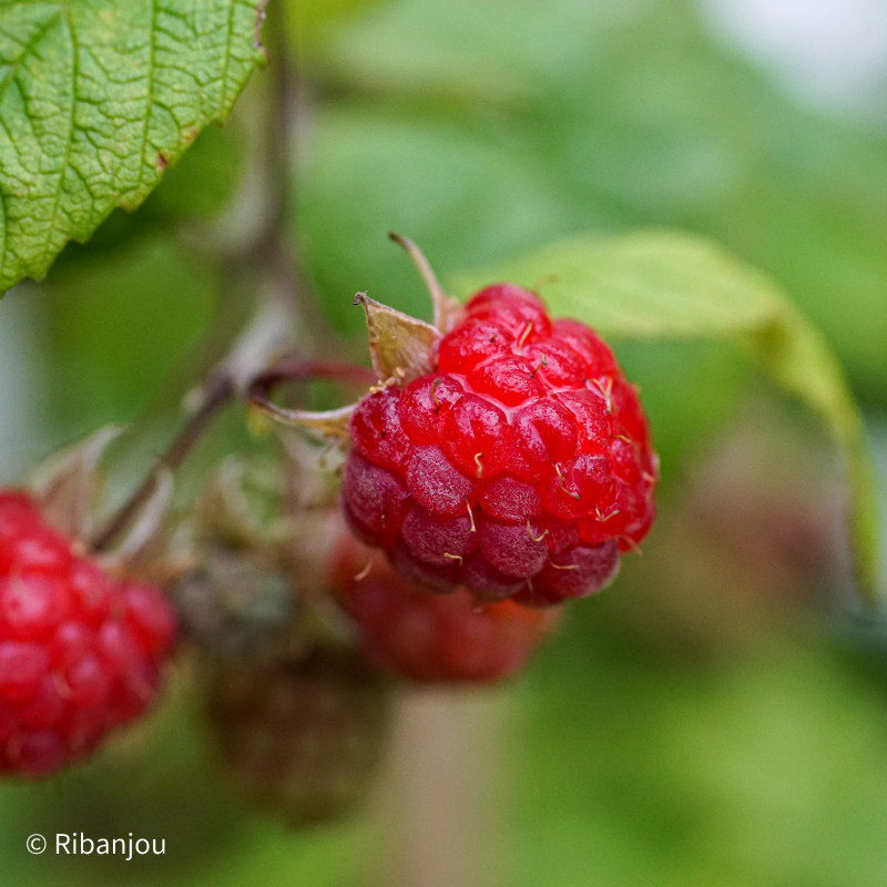
[[635,389],[587,326],[511,284],[478,293],[434,370],[365,397],[343,504],[414,587],[544,606],[603,588],[654,518]]

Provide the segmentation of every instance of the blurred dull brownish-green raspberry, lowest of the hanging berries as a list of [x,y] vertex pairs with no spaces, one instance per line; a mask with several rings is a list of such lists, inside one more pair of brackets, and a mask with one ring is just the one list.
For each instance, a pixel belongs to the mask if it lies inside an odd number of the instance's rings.
[[207,712],[242,793],[299,825],[346,813],[367,789],[388,690],[357,651],[316,648],[217,671]]

